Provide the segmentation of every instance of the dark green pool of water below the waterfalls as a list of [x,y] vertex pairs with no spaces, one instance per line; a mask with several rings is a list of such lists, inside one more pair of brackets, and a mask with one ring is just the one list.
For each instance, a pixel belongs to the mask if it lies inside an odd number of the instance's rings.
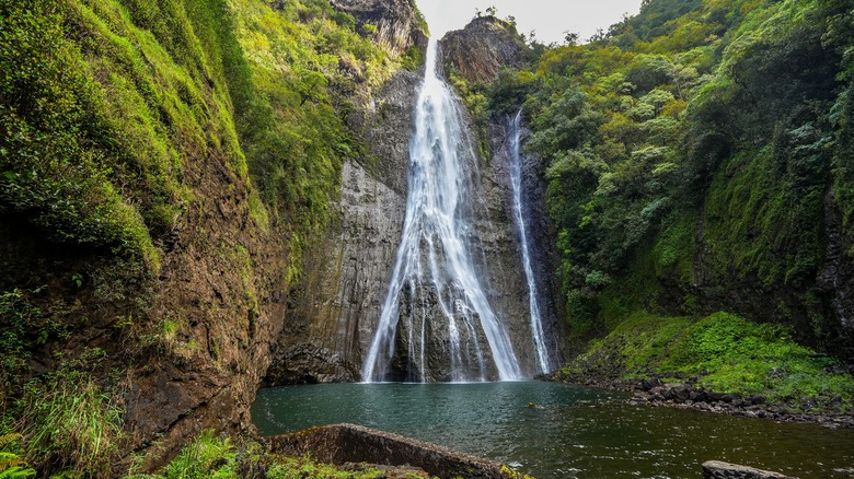
[[700,478],[708,459],[801,479],[854,477],[851,429],[632,406],[553,383],[276,387],[258,392],[253,420],[263,435],[362,424],[518,463],[541,479]]

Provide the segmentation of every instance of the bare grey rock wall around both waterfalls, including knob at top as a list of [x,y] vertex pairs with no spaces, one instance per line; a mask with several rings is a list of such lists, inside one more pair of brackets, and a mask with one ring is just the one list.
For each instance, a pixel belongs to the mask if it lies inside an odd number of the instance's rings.
[[[489,34],[482,35],[484,30]],[[461,47],[461,42],[468,47]],[[475,48],[473,51],[478,54],[466,58],[455,56],[455,51],[464,48]],[[472,66],[481,72],[478,75],[488,77],[497,74],[501,65],[519,65],[526,57],[524,48],[505,22],[476,19],[465,30],[442,39],[440,55],[442,63]],[[359,381],[401,238],[407,147],[422,78],[423,73],[399,73],[379,95],[374,110],[351,119],[363,129],[371,155],[378,160],[345,165],[333,226],[312,248],[305,273],[292,292],[292,307],[266,384]],[[475,131],[468,116],[465,124],[466,131]],[[496,117],[487,131],[488,138],[483,141],[489,144],[493,156],[489,161],[476,156],[475,164],[468,166],[473,172],[474,188],[470,192],[473,203],[464,207],[473,213],[472,231],[468,235],[488,302],[508,325],[524,374],[534,375],[536,359],[528,285],[520,266],[519,234],[511,211],[507,118]],[[474,145],[478,139],[471,135]],[[558,320],[559,301],[554,296],[554,257],[546,246],[553,241],[544,213],[545,185],[534,159],[526,157],[523,175],[523,195],[530,199],[526,213],[534,231],[532,243],[536,245],[534,270],[542,281],[540,302],[544,323],[549,325],[550,348],[557,360],[563,353],[563,330]],[[447,372],[436,372],[434,377],[447,376]]]

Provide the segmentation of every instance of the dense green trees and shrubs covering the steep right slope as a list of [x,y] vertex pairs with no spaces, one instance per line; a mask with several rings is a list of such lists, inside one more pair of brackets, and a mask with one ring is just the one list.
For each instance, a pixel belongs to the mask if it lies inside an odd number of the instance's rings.
[[574,337],[725,308],[839,346],[815,283],[835,215],[854,233],[851,20],[843,1],[651,0],[489,86],[533,130]]

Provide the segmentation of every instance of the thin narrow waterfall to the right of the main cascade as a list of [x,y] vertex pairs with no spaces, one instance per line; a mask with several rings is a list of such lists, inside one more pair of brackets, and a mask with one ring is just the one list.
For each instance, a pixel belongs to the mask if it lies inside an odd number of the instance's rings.
[[519,112],[510,121],[510,183],[512,185],[513,196],[513,221],[519,229],[519,244],[522,248],[522,267],[524,278],[528,281],[528,303],[531,312],[531,337],[533,346],[536,349],[536,364],[540,372],[545,374],[551,372],[549,349],[545,346],[545,335],[543,335],[543,318],[540,314],[539,295],[536,293],[536,282],[534,281],[533,268],[531,268],[531,254],[528,248],[528,227],[522,214],[522,155],[521,155],[521,136],[522,136],[522,112]]

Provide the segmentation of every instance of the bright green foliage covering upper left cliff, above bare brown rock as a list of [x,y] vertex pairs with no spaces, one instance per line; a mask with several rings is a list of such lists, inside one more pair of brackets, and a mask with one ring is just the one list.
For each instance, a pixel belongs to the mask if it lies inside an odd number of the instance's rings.
[[3,208],[153,269],[206,155],[251,176],[262,226],[323,224],[359,149],[349,102],[399,66],[321,0],[26,0],[0,21]]

